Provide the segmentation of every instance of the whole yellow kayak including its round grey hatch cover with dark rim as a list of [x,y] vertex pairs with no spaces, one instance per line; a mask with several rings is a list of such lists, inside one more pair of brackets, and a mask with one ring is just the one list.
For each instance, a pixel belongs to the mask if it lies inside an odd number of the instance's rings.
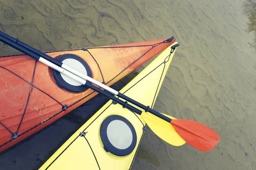
[[[171,53],[171,47],[176,44],[174,42],[166,48],[120,93],[153,108],[176,51]],[[129,170],[145,126],[140,115],[111,100],[77,130],[40,170]]]

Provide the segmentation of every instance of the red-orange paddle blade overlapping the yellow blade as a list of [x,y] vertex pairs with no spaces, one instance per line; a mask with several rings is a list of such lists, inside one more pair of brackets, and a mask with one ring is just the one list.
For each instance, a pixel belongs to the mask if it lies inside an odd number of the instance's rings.
[[218,144],[218,133],[201,123],[172,119],[171,125],[184,141],[198,150],[209,151]]

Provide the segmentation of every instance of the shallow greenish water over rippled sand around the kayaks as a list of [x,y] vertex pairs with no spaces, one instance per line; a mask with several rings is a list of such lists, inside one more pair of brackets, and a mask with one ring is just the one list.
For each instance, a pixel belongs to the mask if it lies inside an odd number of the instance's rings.
[[[154,109],[201,122],[220,141],[201,152],[147,128],[132,169],[256,170],[256,0],[1,0],[0,30],[41,51],[175,36],[180,47]],[[0,44],[9,54],[19,52]],[[105,102],[97,96],[0,153],[0,169],[37,169]]]

